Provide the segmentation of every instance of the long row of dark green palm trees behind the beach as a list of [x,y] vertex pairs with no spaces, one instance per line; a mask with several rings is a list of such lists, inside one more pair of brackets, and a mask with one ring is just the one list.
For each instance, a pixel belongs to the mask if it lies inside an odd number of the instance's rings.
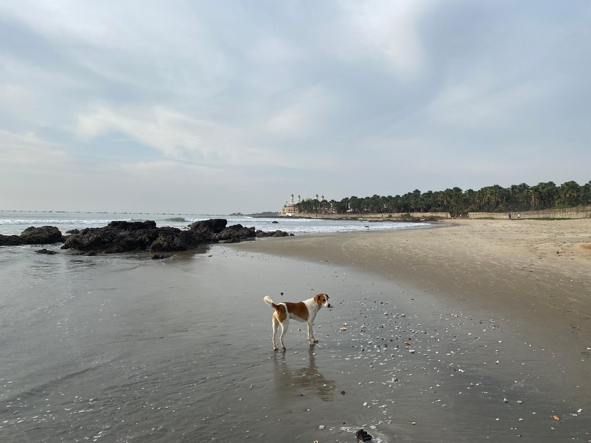
[[468,212],[507,212],[543,210],[553,207],[573,207],[591,204],[591,180],[584,185],[566,181],[557,186],[553,181],[530,186],[514,184],[508,188],[492,185],[475,191],[458,187],[444,191],[418,189],[403,196],[345,197],[336,200],[307,200],[297,203],[300,213],[363,214],[449,212],[452,216]]

